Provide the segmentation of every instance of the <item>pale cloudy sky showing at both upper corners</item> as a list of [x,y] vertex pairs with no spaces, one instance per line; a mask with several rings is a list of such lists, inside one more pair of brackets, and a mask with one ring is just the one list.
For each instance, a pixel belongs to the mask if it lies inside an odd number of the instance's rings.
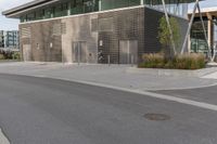
[[[1,15],[1,12],[29,1],[31,0],[0,0],[0,30],[18,29],[20,21],[5,18],[3,15]],[[204,2],[201,2],[201,6],[202,8],[217,6],[217,0],[205,0]]]

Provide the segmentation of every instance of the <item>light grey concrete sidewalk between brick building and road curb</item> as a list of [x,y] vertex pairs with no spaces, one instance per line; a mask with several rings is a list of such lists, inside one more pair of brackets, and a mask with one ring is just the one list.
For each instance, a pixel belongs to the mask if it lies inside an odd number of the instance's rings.
[[180,78],[127,73],[128,65],[77,65],[62,63],[3,63],[0,73],[87,81],[132,90],[192,89],[217,84],[215,79]]

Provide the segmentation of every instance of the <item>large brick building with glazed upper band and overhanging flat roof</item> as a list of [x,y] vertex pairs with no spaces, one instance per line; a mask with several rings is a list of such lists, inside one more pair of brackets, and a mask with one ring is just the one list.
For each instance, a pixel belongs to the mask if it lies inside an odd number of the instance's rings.
[[162,0],[35,0],[3,15],[21,19],[24,61],[128,64],[161,51],[163,10],[184,36],[193,1],[166,0],[165,8]]

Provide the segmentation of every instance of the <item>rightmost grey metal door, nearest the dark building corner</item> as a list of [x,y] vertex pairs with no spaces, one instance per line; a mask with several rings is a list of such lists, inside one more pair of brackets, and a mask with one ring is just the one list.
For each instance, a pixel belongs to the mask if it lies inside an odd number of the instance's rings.
[[138,41],[120,40],[119,41],[119,63],[137,64],[138,62]]

